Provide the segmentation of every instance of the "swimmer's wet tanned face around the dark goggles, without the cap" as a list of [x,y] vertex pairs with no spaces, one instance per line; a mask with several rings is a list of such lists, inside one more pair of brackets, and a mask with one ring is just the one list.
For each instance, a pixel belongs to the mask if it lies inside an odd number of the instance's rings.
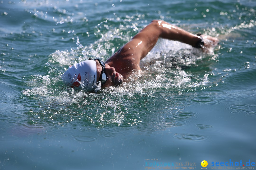
[[[102,67],[99,61],[97,60],[95,61],[97,64],[97,82],[98,82],[100,78],[100,73],[102,71]],[[109,86],[119,86],[123,83],[124,77],[120,73],[116,72],[114,67],[110,67],[108,64],[105,64],[105,70],[106,70],[108,79],[101,88],[105,88]]]

